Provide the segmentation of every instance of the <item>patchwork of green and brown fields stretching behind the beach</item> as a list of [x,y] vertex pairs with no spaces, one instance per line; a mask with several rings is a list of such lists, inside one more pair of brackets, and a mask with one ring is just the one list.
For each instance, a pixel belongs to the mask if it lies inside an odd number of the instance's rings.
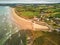
[[37,18],[41,15],[46,17],[60,17],[60,4],[50,4],[50,5],[21,5],[15,7],[16,13],[19,16],[26,18]]

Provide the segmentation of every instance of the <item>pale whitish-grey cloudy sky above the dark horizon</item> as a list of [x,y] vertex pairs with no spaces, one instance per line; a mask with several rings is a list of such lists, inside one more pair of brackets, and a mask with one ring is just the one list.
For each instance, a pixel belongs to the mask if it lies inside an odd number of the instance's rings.
[[60,3],[60,0],[0,0],[0,3]]

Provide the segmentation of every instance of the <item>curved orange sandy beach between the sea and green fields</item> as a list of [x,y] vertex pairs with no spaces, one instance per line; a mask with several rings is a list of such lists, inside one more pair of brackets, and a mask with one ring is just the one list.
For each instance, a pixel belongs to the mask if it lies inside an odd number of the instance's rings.
[[27,20],[27,19],[24,19],[24,18],[18,16],[15,13],[14,8],[11,8],[11,10],[12,10],[11,12],[12,12],[12,20],[13,20],[13,22],[16,23],[21,29],[25,29],[25,30],[26,29],[30,29],[30,30],[36,30],[36,29],[48,30],[49,29],[47,26],[43,26],[43,25],[33,23],[30,20]]

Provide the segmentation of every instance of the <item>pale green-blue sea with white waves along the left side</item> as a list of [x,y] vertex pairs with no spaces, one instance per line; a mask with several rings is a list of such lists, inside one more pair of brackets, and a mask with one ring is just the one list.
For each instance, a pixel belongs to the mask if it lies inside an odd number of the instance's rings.
[[3,45],[13,33],[18,32],[18,27],[11,21],[10,11],[9,6],[0,6],[0,45]]

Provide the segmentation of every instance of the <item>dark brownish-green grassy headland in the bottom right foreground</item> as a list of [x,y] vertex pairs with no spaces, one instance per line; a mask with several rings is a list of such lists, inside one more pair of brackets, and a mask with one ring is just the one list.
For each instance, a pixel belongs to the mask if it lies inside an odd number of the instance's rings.
[[60,33],[53,32],[43,32],[44,35],[36,38],[32,45],[60,45]]

